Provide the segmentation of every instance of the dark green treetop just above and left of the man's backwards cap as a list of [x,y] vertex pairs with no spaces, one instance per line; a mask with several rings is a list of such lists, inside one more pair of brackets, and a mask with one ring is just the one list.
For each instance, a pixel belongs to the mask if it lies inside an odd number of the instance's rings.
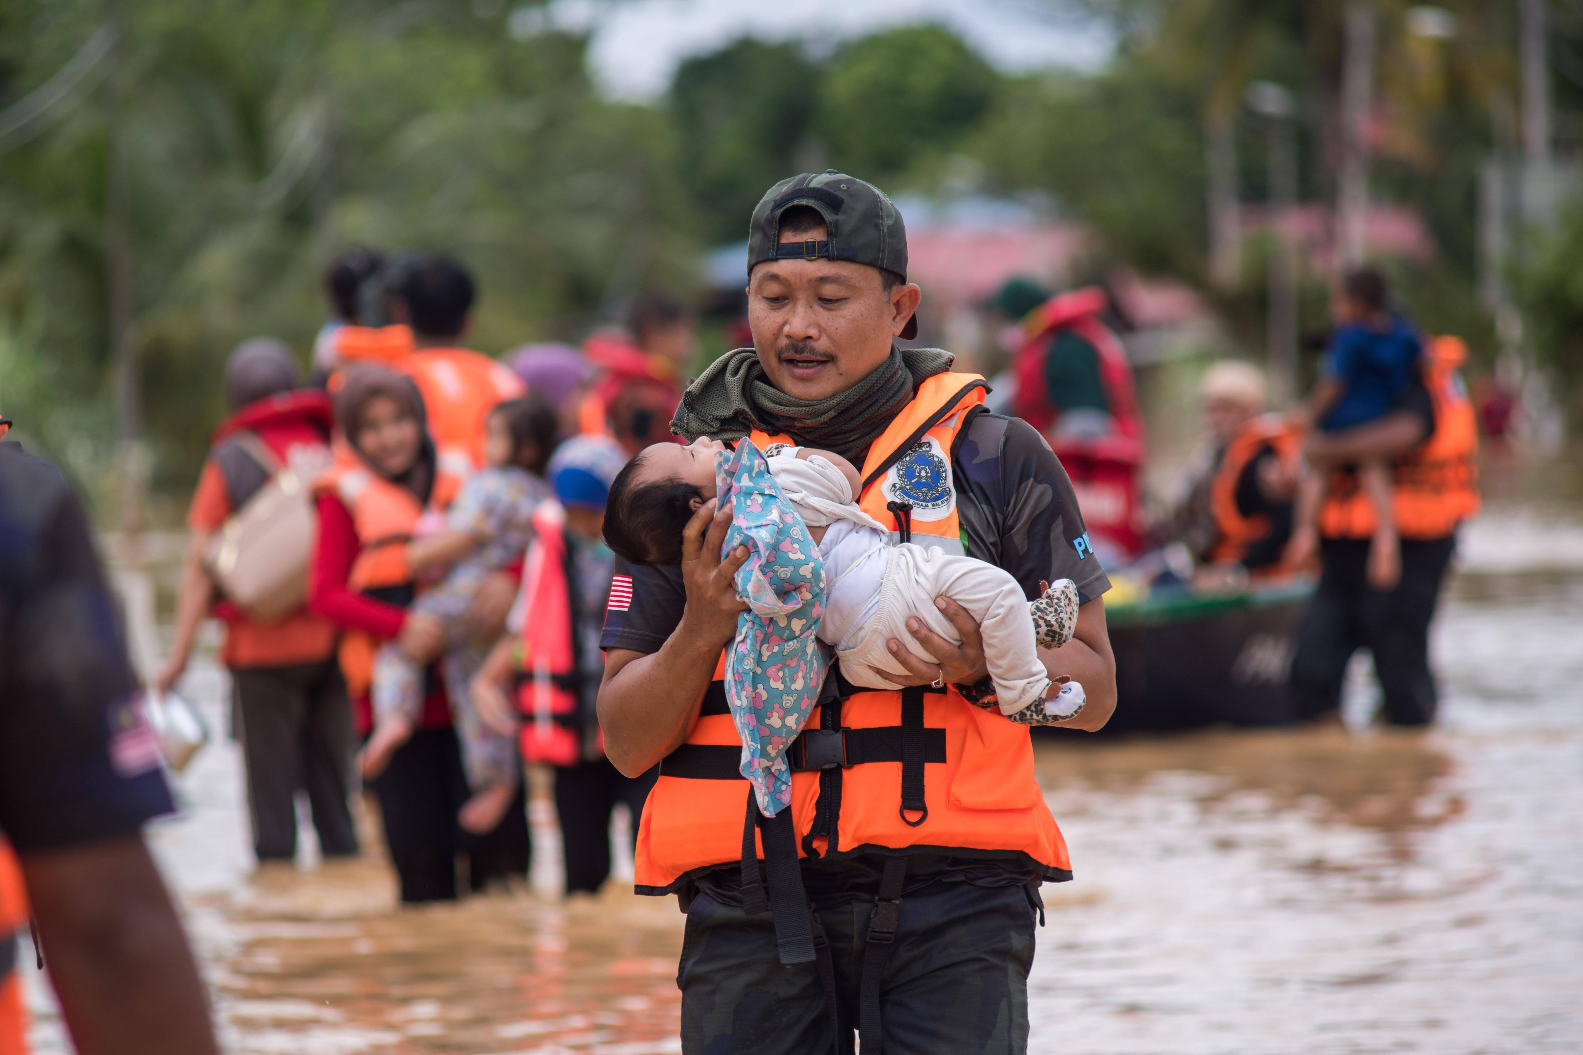
[[685,60],[670,89],[681,181],[712,242],[746,238],[776,181],[795,176],[809,146],[822,71],[796,43],[742,38]]

